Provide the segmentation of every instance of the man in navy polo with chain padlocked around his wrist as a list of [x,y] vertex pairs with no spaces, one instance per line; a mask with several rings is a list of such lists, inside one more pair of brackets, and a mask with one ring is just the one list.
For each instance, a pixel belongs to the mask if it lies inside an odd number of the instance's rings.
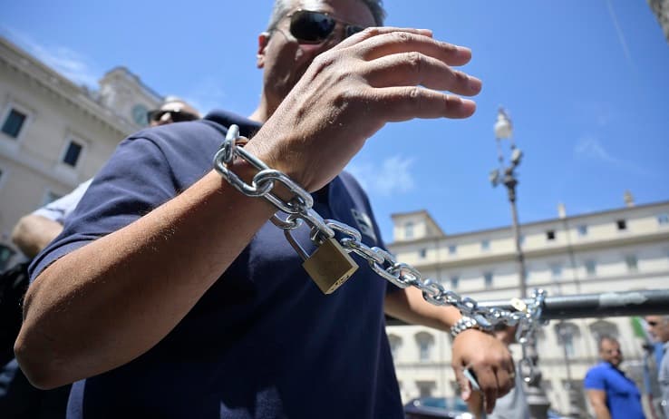
[[[138,132],[123,141],[63,234],[34,260],[15,351],[25,374],[72,383],[68,416],[402,418],[384,312],[449,330],[461,315],[367,267],[325,296],[276,208],[212,170],[230,124],[245,150],[312,193],[314,210],[383,247],[364,191],[344,166],[385,122],[466,118],[480,81],[451,66],[470,50],[383,24],[378,0],[276,1],[258,37],[263,91],[249,118]],[[418,87],[421,84],[422,87]],[[257,170],[228,169],[250,181]],[[276,194],[291,194],[277,187]],[[284,214],[285,217],[285,214]],[[309,229],[292,231],[311,254]],[[459,324],[452,362],[492,410],[513,385],[509,351]],[[460,333],[461,332],[461,333]]]

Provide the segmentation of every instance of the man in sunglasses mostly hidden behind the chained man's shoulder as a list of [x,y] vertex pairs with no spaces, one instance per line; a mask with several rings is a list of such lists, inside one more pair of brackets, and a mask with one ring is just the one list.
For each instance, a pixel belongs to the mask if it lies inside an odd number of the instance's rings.
[[[158,109],[147,115],[150,127],[195,121],[199,118],[199,112],[195,108],[173,96],[165,98]],[[86,180],[62,198],[53,200],[19,219],[12,231],[12,241],[26,258],[33,259],[63,231],[65,219],[82,200],[91,182],[92,179]],[[22,266],[27,270],[28,262],[22,263]],[[27,286],[26,281],[24,287]],[[25,378],[16,360],[12,359],[0,367],[0,417],[63,418],[70,387],[71,385],[63,385],[51,390],[35,388]]]

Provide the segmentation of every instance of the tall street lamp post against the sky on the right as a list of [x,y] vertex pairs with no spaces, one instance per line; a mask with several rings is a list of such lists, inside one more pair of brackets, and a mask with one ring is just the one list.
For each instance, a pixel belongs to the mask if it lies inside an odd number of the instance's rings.
[[[516,179],[516,168],[519,167],[522,160],[523,153],[516,147],[513,141],[513,125],[507,112],[503,108],[499,108],[497,112],[497,122],[495,122],[495,140],[497,141],[499,168],[490,171],[490,182],[493,187],[499,184],[507,188],[509,196],[509,203],[511,205],[511,219],[513,228],[513,237],[516,244],[516,261],[518,264],[519,277],[519,291],[520,297],[528,297],[528,286],[526,280],[525,257],[523,255],[522,247],[520,246],[520,225],[518,220],[518,210],[516,209],[516,186],[518,179]],[[509,140],[510,143],[510,159],[509,165],[505,166],[505,158],[502,147],[502,141]],[[526,395],[528,398],[529,413],[533,419],[546,419],[548,417],[548,407],[550,403],[546,397],[546,393],[541,388],[541,372],[538,369],[538,354],[537,342],[534,336],[528,336],[528,341],[523,348],[523,358],[528,359],[532,368],[528,378],[525,380],[527,384]],[[526,372],[523,372],[523,375]]]

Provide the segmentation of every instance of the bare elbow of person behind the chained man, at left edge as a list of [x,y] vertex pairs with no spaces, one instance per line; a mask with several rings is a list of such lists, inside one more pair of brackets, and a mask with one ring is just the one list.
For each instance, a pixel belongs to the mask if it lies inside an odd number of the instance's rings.
[[25,256],[34,258],[53,239],[63,231],[63,226],[53,219],[39,215],[26,215],[16,224],[12,231],[12,241],[21,249]]

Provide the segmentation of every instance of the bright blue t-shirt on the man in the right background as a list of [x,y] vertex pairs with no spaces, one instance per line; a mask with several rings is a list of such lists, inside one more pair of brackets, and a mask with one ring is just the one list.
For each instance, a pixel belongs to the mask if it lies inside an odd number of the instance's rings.
[[602,362],[587,371],[583,386],[606,393],[611,419],[645,419],[641,393],[635,382],[615,366]]

